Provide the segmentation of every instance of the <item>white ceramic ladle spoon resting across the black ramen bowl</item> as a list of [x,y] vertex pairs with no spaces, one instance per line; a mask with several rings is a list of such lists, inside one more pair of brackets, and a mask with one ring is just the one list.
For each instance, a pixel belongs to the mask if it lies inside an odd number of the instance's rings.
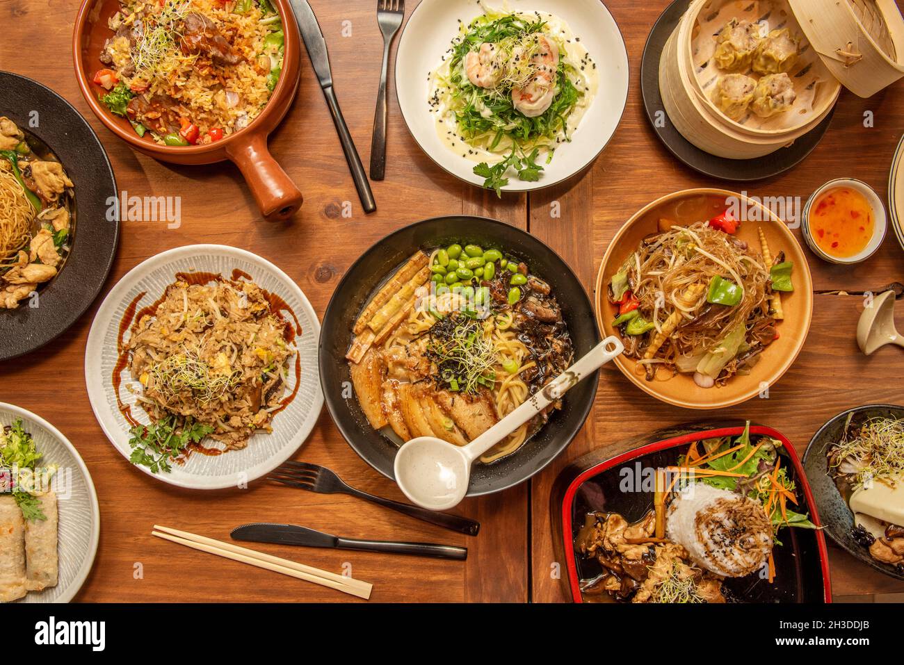
[[453,445],[434,436],[411,439],[399,448],[395,458],[395,477],[401,491],[411,501],[429,510],[447,510],[457,506],[465,498],[471,464],[480,455],[622,351],[625,351],[625,346],[621,340],[607,337],[468,445]]

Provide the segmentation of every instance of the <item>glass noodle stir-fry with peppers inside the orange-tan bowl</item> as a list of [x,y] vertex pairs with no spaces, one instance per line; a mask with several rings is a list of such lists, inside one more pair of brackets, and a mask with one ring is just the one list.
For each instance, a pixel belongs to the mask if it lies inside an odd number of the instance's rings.
[[613,326],[647,380],[692,373],[701,388],[749,373],[778,338],[793,264],[737,237],[730,211],[682,226],[660,220],[609,282]]

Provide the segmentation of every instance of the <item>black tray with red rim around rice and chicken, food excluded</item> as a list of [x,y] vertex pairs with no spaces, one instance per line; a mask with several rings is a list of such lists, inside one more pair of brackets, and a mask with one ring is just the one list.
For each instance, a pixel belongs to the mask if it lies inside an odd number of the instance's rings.
[[[653,508],[653,492],[644,481],[645,472],[677,464],[678,456],[694,441],[739,436],[744,423],[731,420],[718,423],[694,423],[660,429],[645,436],[627,439],[598,448],[579,457],[562,470],[551,492],[551,514],[554,546],[564,560],[565,585],[576,603],[616,602],[605,592],[582,591],[584,583],[602,573],[596,559],[582,557],[574,548],[574,539],[584,523],[584,516],[595,510],[621,513],[629,522],[641,520]],[[790,469],[789,478],[796,484],[800,504],[810,520],[819,525],[819,513],[804,468],[797,459],[794,445],[775,429],[750,425],[751,435],[770,436],[782,442],[783,466]],[[626,486],[628,489],[626,489]],[[764,576],[753,573],[744,577],[727,577],[722,583],[726,597],[741,603],[829,603],[832,585],[822,529],[781,529],[782,544],[773,548],[776,577],[772,584]]]

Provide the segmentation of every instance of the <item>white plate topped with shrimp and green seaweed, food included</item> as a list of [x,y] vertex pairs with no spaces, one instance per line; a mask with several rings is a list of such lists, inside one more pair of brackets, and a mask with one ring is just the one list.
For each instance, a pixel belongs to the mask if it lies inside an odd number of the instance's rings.
[[627,100],[625,42],[599,0],[421,0],[395,71],[402,116],[424,152],[497,194],[578,173],[615,133]]

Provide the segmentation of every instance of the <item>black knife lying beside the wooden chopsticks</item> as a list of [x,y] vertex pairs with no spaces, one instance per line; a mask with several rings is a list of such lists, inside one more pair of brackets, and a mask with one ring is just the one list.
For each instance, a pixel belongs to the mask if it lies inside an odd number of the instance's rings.
[[433,543],[406,543],[392,540],[360,540],[340,538],[322,531],[315,531],[297,524],[274,524],[254,522],[232,529],[233,540],[247,540],[278,545],[300,545],[306,548],[361,549],[366,552],[386,552],[389,554],[410,554],[416,557],[452,558],[464,561],[467,548]]

